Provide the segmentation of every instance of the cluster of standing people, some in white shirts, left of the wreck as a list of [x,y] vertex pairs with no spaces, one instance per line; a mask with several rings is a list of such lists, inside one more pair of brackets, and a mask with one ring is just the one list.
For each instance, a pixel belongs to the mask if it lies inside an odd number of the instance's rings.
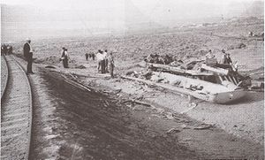
[[101,73],[110,72],[111,78],[114,78],[113,70],[114,70],[114,57],[113,53],[108,53],[108,50],[98,50],[96,54],[97,59],[97,70]]

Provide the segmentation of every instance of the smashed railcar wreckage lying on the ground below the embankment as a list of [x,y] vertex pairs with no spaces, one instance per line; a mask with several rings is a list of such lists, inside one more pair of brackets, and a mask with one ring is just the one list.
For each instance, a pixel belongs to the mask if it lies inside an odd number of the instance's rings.
[[124,78],[192,95],[211,103],[239,100],[251,86],[249,76],[240,75],[232,65],[212,63],[211,59],[186,64],[172,61],[169,65],[146,62],[148,72],[128,72]]

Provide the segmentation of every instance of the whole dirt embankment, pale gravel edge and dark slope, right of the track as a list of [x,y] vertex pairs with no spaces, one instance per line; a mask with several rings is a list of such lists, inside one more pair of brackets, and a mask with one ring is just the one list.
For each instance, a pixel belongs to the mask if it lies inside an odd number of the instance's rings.
[[[117,89],[83,81],[89,89],[84,90],[71,82],[85,77],[42,67],[34,67],[34,72],[34,158],[259,159],[263,155],[261,145],[216,126],[155,103],[133,101],[134,96]],[[145,89],[159,94],[159,89]]]

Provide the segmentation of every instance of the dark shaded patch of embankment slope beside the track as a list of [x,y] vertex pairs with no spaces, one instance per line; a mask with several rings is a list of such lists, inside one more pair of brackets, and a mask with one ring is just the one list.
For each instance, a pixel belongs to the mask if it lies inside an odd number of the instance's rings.
[[[61,159],[197,159],[196,154],[167,135],[148,126],[117,100],[95,91],[83,91],[64,82],[57,74],[41,75],[43,85],[56,102],[51,120],[51,141]],[[40,98],[40,103],[47,101]],[[50,108],[49,105],[46,107]],[[42,109],[43,111],[44,109]],[[48,109],[45,109],[48,110]],[[38,113],[36,113],[38,115]],[[43,119],[42,119],[43,120]],[[40,130],[38,130],[40,131]],[[42,137],[37,134],[36,137]],[[39,146],[42,139],[34,141]],[[47,146],[48,147],[48,146]],[[49,148],[49,147],[48,147]],[[42,149],[41,149],[42,150]],[[45,149],[44,149],[45,150]],[[43,158],[35,150],[35,158]]]

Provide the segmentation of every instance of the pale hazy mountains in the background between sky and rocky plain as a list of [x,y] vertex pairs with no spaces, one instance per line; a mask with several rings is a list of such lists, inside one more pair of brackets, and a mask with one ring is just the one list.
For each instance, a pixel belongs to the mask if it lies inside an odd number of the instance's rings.
[[[192,5],[192,3],[187,3]],[[188,7],[189,5],[186,5]],[[194,4],[195,5],[195,4]],[[208,5],[210,6],[210,5]],[[264,2],[254,1],[248,3],[232,3],[223,13],[224,18],[231,17],[263,17]],[[99,34],[127,34],[133,32],[153,32],[157,29],[177,27],[181,24],[193,24],[203,22],[221,21],[220,17],[193,18],[192,14],[185,17],[179,16],[179,12],[172,9],[166,10],[161,6],[154,8],[149,15],[131,1],[125,1],[118,8],[110,5],[110,8],[99,8],[86,14],[84,10],[72,8],[72,10],[49,11],[26,5],[1,4],[1,40],[2,42],[24,40],[27,37],[33,39],[71,36],[97,36]],[[178,6],[176,9],[178,9]],[[194,6],[190,6],[194,9]],[[196,8],[196,7],[195,7]],[[118,9],[118,10],[117,10]],[[156,11],[157,10],[157,11]],[[159,15],[159,11],[164,12]],[[177,10],[178,11],[178,10]],[[195,11],[195,10],[194,10]],[[211,11],[216,11],[211,9]],[[110,14],[111,12],[111,14]],[[202,14],[202,13],[201,13]],[[176,15],[176,16],[174,16]],[[218,13],[219,15],[219,13]],[[164,19],[163,19],[164,17]]]

